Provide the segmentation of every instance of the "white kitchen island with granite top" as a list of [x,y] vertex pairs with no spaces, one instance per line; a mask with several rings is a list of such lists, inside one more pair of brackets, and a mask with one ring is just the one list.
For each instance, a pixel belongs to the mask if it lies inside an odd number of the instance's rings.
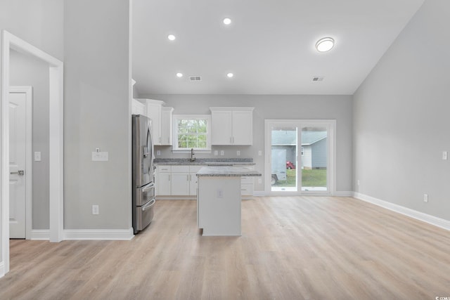
[[203,235],[241,235],[240,177],[261,176],[252,167],[203,167],[198,171],[197,225]]

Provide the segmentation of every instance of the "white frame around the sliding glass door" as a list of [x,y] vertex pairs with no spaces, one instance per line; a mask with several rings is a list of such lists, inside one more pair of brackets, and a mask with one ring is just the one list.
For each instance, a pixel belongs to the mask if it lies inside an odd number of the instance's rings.
[[[316,193],[314,191],[302,191],[301,187],[296,192],[272,192],[271,191],[271,126],[330,126],[329,141],[328,141],[328,168],[329,178],[327,193]],[[334,196],[336,193],[336,120],[335,119],[265,119],[264,120],[264,194],[265,195],[330,195]],[[301,136],[301,133],[299,133]],[[298,150],[297,150],[298,151]],[[298,162],[301,162],[299,157]],[[298,164],[297,162],[297,164]],[[297,179],[298,180],[298,179]]]

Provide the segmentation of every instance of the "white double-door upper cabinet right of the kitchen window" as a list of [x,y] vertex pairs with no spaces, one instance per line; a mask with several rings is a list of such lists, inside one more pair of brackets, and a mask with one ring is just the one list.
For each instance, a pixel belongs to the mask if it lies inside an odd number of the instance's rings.
[[210,107],[211,145],[252,145],[255,107]]

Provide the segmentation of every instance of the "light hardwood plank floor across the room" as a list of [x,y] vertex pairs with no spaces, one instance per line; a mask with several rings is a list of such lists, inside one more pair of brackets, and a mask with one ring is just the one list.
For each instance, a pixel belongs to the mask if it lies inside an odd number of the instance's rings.
[[160,200],[131,241],[11,240],[0,299],[450,297],[450,232],[345,197],[255,197],[241,237],[202,237]]

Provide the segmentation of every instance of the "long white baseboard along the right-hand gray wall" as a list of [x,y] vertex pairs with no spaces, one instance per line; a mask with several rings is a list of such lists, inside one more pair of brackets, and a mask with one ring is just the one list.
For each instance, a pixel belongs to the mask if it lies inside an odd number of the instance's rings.
[[379,207],[383,207],[385,209],[389,209],[395,212],[398,212],[399,214],[404,214],[405,216],[410,216],[413,219],[417,219],[426,223],[429,223],[431,225],[444,228],[446,230],[450,230],[450,221],[440,219],[437,216],[431,216],[430,214],[424,214],[423,212],[416,211],[414,209],[409,209],[408,207],[402,207],[401,205],[397,205],[391,202],[387,202],[384,200],[380,200],[368,195],[364,195],[361,193],[354,193],[354,196],[356,199],[369,202],[375,205],[378,205]]

